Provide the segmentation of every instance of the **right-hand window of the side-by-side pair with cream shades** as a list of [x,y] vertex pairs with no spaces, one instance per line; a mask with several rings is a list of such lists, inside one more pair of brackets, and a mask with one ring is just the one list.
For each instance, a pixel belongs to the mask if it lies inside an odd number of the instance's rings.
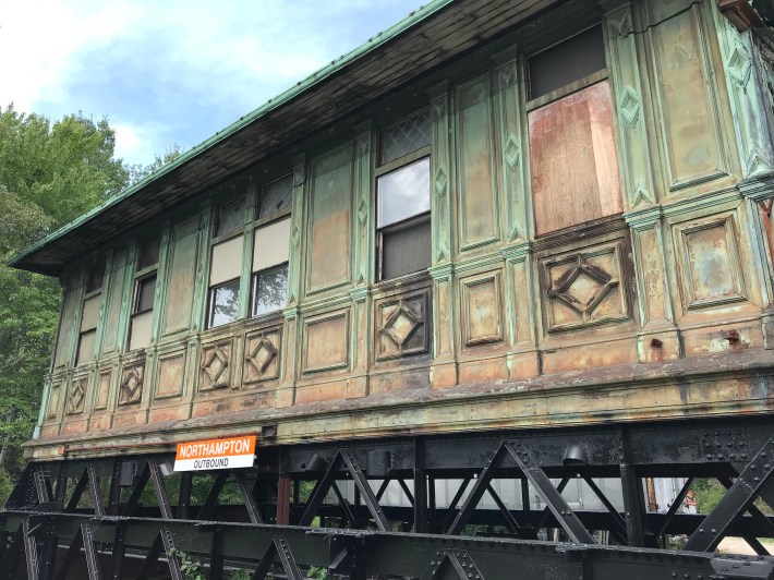
[[261,190],[253,238],[253,316],[277,311],[287,301],[292,194],[292,176],[273,181]]

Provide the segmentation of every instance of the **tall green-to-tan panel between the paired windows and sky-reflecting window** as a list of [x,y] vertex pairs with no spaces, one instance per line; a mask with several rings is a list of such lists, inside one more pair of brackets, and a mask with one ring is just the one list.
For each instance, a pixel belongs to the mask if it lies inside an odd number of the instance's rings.
[[307,290],[322,290],[350,279],[352,145],[328,152],[312,162]]

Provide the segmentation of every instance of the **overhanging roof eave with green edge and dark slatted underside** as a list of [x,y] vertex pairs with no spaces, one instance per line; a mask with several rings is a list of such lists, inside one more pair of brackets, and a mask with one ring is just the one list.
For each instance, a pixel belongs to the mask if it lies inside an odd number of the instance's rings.
[[58,276],[69,262],[184,203],[288,143],[527,22],[561,0],[432,0],[384,33],[37,242],[10,266]]

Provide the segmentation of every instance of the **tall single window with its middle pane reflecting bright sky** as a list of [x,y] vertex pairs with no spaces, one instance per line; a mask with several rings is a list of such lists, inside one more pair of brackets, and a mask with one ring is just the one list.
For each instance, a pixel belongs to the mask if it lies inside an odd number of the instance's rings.
[[430,132],[426,110],[382,130],[376,169],[380,280],[431,265]]

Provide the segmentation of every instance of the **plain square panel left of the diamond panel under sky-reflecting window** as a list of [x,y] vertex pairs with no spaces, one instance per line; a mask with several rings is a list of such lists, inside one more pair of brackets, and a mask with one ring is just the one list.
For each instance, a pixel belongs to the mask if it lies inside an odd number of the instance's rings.
[[304,321],[303,371],[341,368],[349,364],[349,311]]

